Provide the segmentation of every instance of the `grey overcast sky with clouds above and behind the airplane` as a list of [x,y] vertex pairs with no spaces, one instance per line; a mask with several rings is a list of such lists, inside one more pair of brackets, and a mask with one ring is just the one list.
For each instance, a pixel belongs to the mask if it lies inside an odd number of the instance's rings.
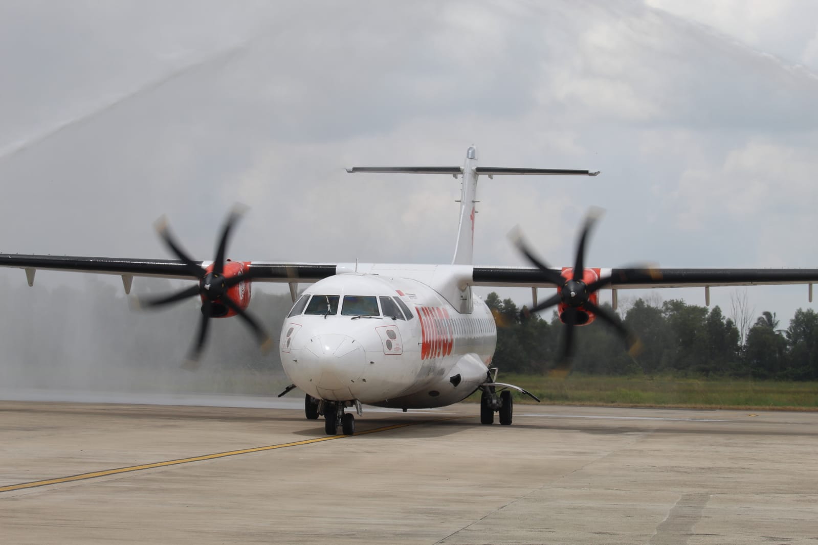
[[2,252],[168,257],[166,213],[209,259],[240,201],[233,259],[449,262],[459,181],[344,167],[474,144],[485,166],[602,171],[482,179],[478,264],[525,265],[519,224],[569,266],[596,205],[590,266],[818,266],[816,2],[3,0],[0,69]]

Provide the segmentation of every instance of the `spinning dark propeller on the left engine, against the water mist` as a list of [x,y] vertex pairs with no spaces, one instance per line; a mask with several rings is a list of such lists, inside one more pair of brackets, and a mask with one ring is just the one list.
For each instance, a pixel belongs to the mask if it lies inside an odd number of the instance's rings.
[[191,275],[199,280],[199,284],[189,288],[183,288],[176,293],[161,297],[135,297],[134,306],[138,308],[160,308],[182,302],[189,297],[201,297],[202,308],[199,328],[196,333],[195,342],[187,354],[187,360],[182,365],[185,369],[197,369],[202,350],[207,342],[209,322],[211,318],[218,318],[232,310],[245,325],[252,331],[258,341],[258,346],[267,351],[272,346],[272,340],[258,320],[249,314],[247,310],[236,304],[227,294],[228,290],[236,284],[250,278],[248,273],[241,273],[236,276],[224,276],[225,254],[227,252],[227,241],[236,222],[244,216],[246,208],[236,205],[227,215],[227,219],[222,225],[222,233],[216,246],[216,258],[213,260],[213,268],[208,272],[200,263],[193,261],[191,257],[182,249],[182,246],[170,232],[168,221],[165,217],[160,217],[154,224],[156,232],[170,251],[185,264]]

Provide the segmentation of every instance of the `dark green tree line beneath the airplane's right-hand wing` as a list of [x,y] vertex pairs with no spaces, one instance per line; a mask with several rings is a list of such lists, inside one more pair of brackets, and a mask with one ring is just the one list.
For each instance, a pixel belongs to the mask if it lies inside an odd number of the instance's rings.
[[[497,321],[497,351],[492,365],[506,373],[546,373],[560,361],[564,326],[521,312],[510,299],[490,293],[486,303]],[[613,309],[605,303],[608,310]],[[739,332],[735,320],[718,306],[688,305],[673,299],[638,299],[627,312],[615,313],[639,337],[642,350],[628,354],[622,338],[596,320],[574,332],[573,372],[604,375],[673,374],[694,377],[747,377],[769,380],[818,380],[818,313],[798,309],[788,328],[764,311]]]

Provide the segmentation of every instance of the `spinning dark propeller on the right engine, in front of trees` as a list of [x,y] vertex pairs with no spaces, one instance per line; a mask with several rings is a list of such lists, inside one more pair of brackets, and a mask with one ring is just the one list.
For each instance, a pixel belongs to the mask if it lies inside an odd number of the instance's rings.
[[567,372],[574,355],[574,327],[582,325],[587,322],[588,313],[596,315],[604,322],[612,325],[620,337],[625,339],[628,351],[631,355],[636,355],[641,350],[641,343],[634,333],[631,333],[624,324],[612,312],[606,310],[601,306],[597,306],[591,301],[591,295],[600,288],[605,288],[613,279],[610,276],[597,279],[590,284],[587,284],[583,279],[585,273],[585,247],[588,235],[591,233],[596,221],[602,216],[601,208],[591,208],[582,225],[582,230],[579,233],[579,242],[577,246],[577,257],[574,260],[572,275],[569,278],[561,275],[558,270],[551,269],[545,261],[534,255],[528,245],[524,242],[523,236],[519,229],[512,231],[510,238],[515,243],[515,246],[524,256],[531,261],[534,266],[537,266],[542,272],[542,276],[547,282],[556,284],[560,290],[545,301],[533,306],[533,308],[524,310],[528,313],[539,312],[546,310],[551,306],[564,304],[564,312],[561,319],[565,324],[565,335],[563,338],[562,356],[557,370]]

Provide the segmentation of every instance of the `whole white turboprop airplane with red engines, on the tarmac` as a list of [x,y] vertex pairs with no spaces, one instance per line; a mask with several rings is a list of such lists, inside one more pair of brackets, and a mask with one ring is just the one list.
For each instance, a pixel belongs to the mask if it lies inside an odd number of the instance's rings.
[[[460,223],[455,255],[450,265],[378,263],[283,263],[231,261],[227,241],[242,210],[227,217],[213,261],[195,261],[171,235],[162,220],[156,228],[177,259],[124,259],[111,257],[56,257],[0,254],[0,266],[25,269],[29,285],[38,269],[73,270],[121,275],[125,293],[134,276],[191,279],[196,284],[165,297],[140,298],[137,306],[161,307],[188,297],[200,297],[201,318],[186,366],[195,368],[205,346],[211,318],[237,316],[254,333],[263,348],[271,339],[247,307],[254,282],[290,284],[294,306],[286,316],[279,342],[281,364],[292,385],[305,392],[308,419],[321,415],[327,434],[340,427],[353,435],[355,418],[345,409],[362,414],[362,404],[397,409],[442,407],[482,391],[480,422],[492,424],[499,413],[501,424],[513,417],[511,391],[529,392],[497,382],[492,355],[497,328],[492,313],[475,286],[518,286],[533,289],[532,312],[557,307],[567,328],[564,360],[573,353],[573,330],[599,318],[611,324],[636,350],[636,337],[617,317],[599,305],[600,288],[618,289],[705,288],[750,284],[809,284],[818,282],[818,269],[659,269],[628,267],[587,268],[585,246],[596,221],[587,217],[579,235],[573,266],[551,268],[536,257],[518,235],[515,243],[533,267],[474,266],[474,216],[477,183],[481,175],[596,176],[587,170],[544,168],[493,168],[477,164],[470,147],[462,167],[355,167],[347,172],[407,172],[447,174],[461,178]],[[298,284],[312,284],[298,294]],[[537,303],[537,289],[555,293]],[[531,395],[535,400],[537,399]]]

